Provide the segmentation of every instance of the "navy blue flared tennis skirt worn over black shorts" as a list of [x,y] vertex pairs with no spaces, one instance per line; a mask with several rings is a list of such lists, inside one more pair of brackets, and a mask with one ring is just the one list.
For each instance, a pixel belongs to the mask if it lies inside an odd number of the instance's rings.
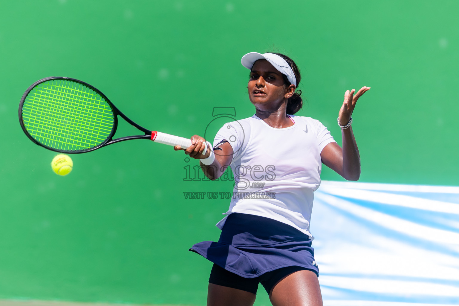
[[311,242],[308,235],[288,224],[234,212],[226,219],[218,242],[199,242],[190,251],[244,278],[290,266],[319,276]]

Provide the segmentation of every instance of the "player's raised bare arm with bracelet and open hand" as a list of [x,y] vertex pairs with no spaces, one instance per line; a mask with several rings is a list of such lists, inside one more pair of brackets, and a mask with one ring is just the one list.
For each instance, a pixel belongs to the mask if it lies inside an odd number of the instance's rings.
[[[369,87],[362,87],[356,95],[355,89],[349,90],[344,94],[344,102],[339,112],[341,125],[346,125],[351,119],[352,112],[358,98],[363,95]],[[352,126],[346,129],[341,128],[343,147],[335,142],[325,146],[320,153],[320,157],[325,166],[330,167],[336,173],[349,181],[357,181],[360,178],[360,154],[358,153]]]

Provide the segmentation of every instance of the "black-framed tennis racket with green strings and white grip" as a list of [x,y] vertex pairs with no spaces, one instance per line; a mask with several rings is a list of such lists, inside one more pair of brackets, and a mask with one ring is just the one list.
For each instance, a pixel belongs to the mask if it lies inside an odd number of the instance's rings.
[[[144,134],[113,139],[118,116]],[[191,145],[190,139],[141,127],[100,90],[74,78],[50,77],[33,83],[22,95],[19,122],[34,143],[62,153],[89,152],[131,139],[151,139],[184,149]]]

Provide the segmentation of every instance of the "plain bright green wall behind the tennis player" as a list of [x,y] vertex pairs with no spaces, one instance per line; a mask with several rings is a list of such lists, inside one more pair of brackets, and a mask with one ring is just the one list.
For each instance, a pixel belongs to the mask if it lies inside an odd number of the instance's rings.
[[[232,188],[184,181],[183,152],[148,141],[74,155],[73,172],[56,176],[55,153],[17,118],[37,79],[84,80],[135,122],[189,137],[214,106],[252,116],[240,59],[274,48],[302,71],[297,115],[338,142],[345,90],[371,86],[353,116],[360,181],[458,185],[458,10],[454,0],[0,0],[0,298],[205,305],[211,264],[187,250],[218,239],[229,200],[183,192]],[[322,179],[341,180],[326,168]],[[268,303],[260,287],[255,305]]]

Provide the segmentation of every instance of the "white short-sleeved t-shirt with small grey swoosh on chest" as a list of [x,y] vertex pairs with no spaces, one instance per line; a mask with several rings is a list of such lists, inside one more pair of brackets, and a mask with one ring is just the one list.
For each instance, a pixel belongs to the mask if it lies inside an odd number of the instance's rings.
[[[253,115],[225,123],[215,147],[228,140],[235,184],[229,210],[268,217],[309,233],[313,192],[320,185],[320,152],[335,140],[327,128],[310,117],[290,115],[294,124],[273,128]],[[218,154],[215,150],[215,154]],[[223,228],[225,216],[216,225]]]

